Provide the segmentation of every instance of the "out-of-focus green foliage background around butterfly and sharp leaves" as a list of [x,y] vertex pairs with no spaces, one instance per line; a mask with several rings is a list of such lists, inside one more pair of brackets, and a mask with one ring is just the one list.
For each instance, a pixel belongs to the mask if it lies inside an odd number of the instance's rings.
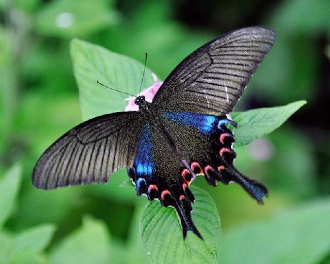
[[[223,232],[219,256],[224,262],[228,258],[256,263],[328,261],[330,246],[322,230],[328,227],[329,208],[328,200],[321,197],[330,193],[330,124],[325,116],[330,98],[325,56],[329,53],[325,48],[330,38],[329,1],[285,0],[266,7],[258,7],[258,1],[214,1],[199,6],[200,14],[212,14],[209,20],[204,23],[193,17],[193,24],[184,23],[180,15],[191,12],[183,7],[194,8],[189,1],[75,3],[0,1],[0,179],[8,184],[0,185],[0,222],[4,224],[0,262],[65,263],[80,260],[83,253],[86,263],[91,263],[88,257],[100,263],[147,261],[139,236],[147,201],[136,197],[133,188],[118,187],[126,180],[125,173],[114,175],[104,186],[48,192],[31,186],[31,171],[40,154],[82,120],[70,57],[72,38],[139,61],[148,52],[149,69],[163,80],[181,59],[229,25],[234,29],[252,23],[272,26],[277,41],[238,109],[302,99],[309,104],[271,135],[236,149],[237,167],[267,184],[270,197],[265,206],[257,206],[236,185],[213,188],[204,179],[195,184],[211,194],[219,211]],[[245,10],[247,5],[250,8]],[[257,15],[252,19],[247,12]],[[106,72],[96,78],[108,80]],[[259,155],[261,150],[263,155]],[[17,161],[21,169],[12,167]],[[12,192],[4,194],[1,188]],[[7,207],[1,203],[4,197]],[[284,209],[285,216],[279,213]],[[81,241],[84,236],[91,237],[90,241]],[[238,241],[244,250],[236,246]],[[91,250],[95,243],[100,248]],[[258,250],[271,253],[261,258]],[[309,257],[304,257],[302,252],[309,251]]]

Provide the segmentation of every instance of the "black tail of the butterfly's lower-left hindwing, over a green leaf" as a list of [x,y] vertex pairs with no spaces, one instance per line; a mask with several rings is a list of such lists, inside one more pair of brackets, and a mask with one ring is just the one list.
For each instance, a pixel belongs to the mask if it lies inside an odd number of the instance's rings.
[[191,219],[191,203],[185,198],[177,201],[174,208],[177,211],[177,214],[181,221],[183,239],[186,238],[188,231],[193,232],[197,237],[203,239],[201,233],[199,232],[199,230],[197,230]]

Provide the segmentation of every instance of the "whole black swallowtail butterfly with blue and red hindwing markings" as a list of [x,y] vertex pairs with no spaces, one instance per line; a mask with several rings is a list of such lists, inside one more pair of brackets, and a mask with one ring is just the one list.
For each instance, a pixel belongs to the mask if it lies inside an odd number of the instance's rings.
[[265,186],[237,171],[227,116],[275,41],[268,27],[229,32],[186,57],[163,82],[153,102],[139,96],[139,111],[90,119],[72,128],[40,157],[32,183],[42,189],[108,182],[121,168],[138,195],[177,211],[183,236],[202,235],[191,219],[189,184],[204,175],[212,186],[240,184],[258,203]]

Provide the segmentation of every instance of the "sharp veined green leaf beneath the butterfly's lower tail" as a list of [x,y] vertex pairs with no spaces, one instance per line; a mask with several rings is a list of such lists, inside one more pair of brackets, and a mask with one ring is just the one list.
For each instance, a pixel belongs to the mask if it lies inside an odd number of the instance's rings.
[[196,198],[192,219],[204,240],[192,232],[184,240],[175,210],[153,201],[141,222],[142,243],[150,263],[216,263],[221,238],[218,211],[207,192],[194,186],[191,190]]

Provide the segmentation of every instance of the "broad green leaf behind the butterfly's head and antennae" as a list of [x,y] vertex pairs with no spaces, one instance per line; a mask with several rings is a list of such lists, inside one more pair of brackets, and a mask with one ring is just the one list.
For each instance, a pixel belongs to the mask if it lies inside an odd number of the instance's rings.
[[[97,45],[74,39],[71,42],[74,74],[79,87],[83,119],[123,111],[128,95],[107,89],[96,80],[120,91],[137,94],[143,64]],[[154,83],[152,72],[146,69],[142,88]]]

